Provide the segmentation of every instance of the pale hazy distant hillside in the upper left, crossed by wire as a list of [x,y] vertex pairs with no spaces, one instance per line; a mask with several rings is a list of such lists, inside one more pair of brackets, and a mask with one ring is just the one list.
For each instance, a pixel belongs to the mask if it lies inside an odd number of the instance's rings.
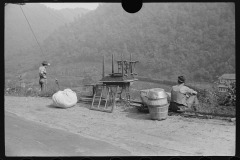
[[[39,43],[43,42],[55,29],[89,11],[81,8],[54,10],[39,3],[26,3],[21,7]],[[6,69],[14,69],[18,65],[21,67],[21,64],[16,64],[18,63],[16,61],[21,56],[31,56],[31,53],[25,54],[25,52],[37,44],[22,10],[15,4],[8,4],[5,7]]]

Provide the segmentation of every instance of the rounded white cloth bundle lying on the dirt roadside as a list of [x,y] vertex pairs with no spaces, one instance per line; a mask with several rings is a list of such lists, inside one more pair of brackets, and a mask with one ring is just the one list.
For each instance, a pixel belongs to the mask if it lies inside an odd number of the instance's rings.
[[71,89],[58,91],[52,96],[53,106],[61,108],[73,107],[77,104],[77,94]]

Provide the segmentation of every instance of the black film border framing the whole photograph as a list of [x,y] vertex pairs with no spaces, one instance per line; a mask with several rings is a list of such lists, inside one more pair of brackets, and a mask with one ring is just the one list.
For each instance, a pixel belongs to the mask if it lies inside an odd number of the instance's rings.
[[[126,0],[123,0],[124,2],[126,1]],[[139,1],[141,1],[141,0],[138,0],[138,2]],[[52,1],[49,1],[49,0],[41,0],[41,1],[39,1],[39,0],[5,0],[4,1],[4,4],[2,5],[3,6],[3,22],[4,22],[4,8],[5,8],[5,3],[43,3],[43,2],[49,2],[49,3],[59,3],[59,2],[66,2],[66,3],[71,3],[71,2],[74,2],[74,3],[76,3],[76,2],[85,2],[85,3],[87,3],[87,2],[95,2],[95,3],[97,3],[97,2],[112,2],[112,3],[120,3],[121,2],[121,0],[103,0],[103,1],[97,1],[97,0],[81,0],[81,1],[65,1],[65,0],[52,0]],[[128,2],[130,2],[131,4],[129,4],[129,5],[132,5],[132,3],[133,3],[133,1],[131,1],[131,0],[128,0]],[[142,2],[143,3],[148,3],[148,2],[178,2],[178,1],[156,1],[156,0],[142,0]],[[181,2],[195,2],[195,1],[181,1]],[[238,23],[238,21],[237,21],[237,15],[239,15],[239,10],[237,10],[237,8],[239,8],[239,3],[238,3],[238,1],[197,1],[197,2],[234,2],[235,3],[235,23],[236,23],[236,26],[235,26],[235,28],[236,28],[236,30],[235,30],[235,33],[236,33],[236,43],[238,42],[238,35],[239,35],[239,32],[238,32],[238,28],[239,28],[239,23]],[[239,1],[240,2],[240,1]],[[4,23],[3,23],[3,35],[4,35]],[[4,53],[4,36],[2,36],[3,37],[3,47],[2,47],[2,49],[3,49],[3,52],[2,53]],[[236,60],[237,60],[237,51],[238,51],[238,45],[236,46]],[[5,56],[4,56],[4,54],[2,54],[3,55],[3,60],[5,60],[4,58],[5,58]],[[237,62],[237,61],[236,61]],[[3,64],[3,66],[2,66],[2,68],[4,69],[4,78],[5,78],[5,61],[2,63]],[[237,69],[237,63],[236,63],[236,69]],[[236,71],[237,72],[237,71]],[[237,74],[237,73],[236,73]],[[5,84],[5,79],[3,79],[3,84]],[[237,83],[236,83],[237,84]],[[4,86],[4,85],[3,85]],[[3,87],[3,97],[4,97],[4,87]],[[4,99],[2,100],[2,102],[4,102]],[[236,105],[237,106],[237,105]],[[207,157],[202,157],[202,156],[193,156],[193,157],[187,157],[187,156],[183,156],[183,157],[181,157],[181,156],[177,156],[177,157],[175,157],[175,156],[167,156],[167,157],[160,157],[160,156],[132,156],[132,157],[119,157],[119,156],[117,156],[117,157],[91,157],[91,156],[88,156],[88,157],[5,157],[5,146],[4,146],[4,144],[5,144],[5,136],[4,136],[4,112],[5,112],[5,110],[4,110],[4,107],[1,107],[1,109],[2,109],[2,111],[1,111],[1,114],[2,114],[2,116],[1,116],[1,128],[2,128],[2,131],[3,132],[1,132],[1,138],[0,138],[0,144],[1,144],[1,148],[0,148],[0,159],[3,159],[3,160],[5,160],[5,159],[19,159],[19,160],[22,160],[22,159],[51,159],[51,160],[53,160],[53,159],[56,159],[56,160],[65,160],[65,159],[78,159],[78,160],[82,160],[82,159],[85,159],[85,158],[90,158],[90,159],[92,159],[92,160],[96,160],[96,159],[103,159],[103,160],[110,160],[110,159],[112,159],[112,158],[120,158],[120,159],[122,159],[122,160],[127,160],[127,159],[131,159],[131,160],[141,160],[142,158],[150,158],[151,160],[160,160],[160,159],[167,159],[167,160],[170,160],[170,159],[172,159],[172,158],[176,158],[176,159],[182,159],[182,160],[187,160],[187,159],[202,159],[202,158],[207,158]],[[236,117],[238,117],[238,115],[239,115],[239,108],[238,107],[236,107]],[[239,157],[239,153],[237,152],[237,151],[239,151],[239,144],[240,144],[240,140],[239,140],[239,127],[238,127],[238,124],[239,124],[239,119],[238,118],[236,118],[236,152],[235,152],[235,157]],[[234,156],[233,156],[234,157]],[[228,156],[208,156],[208,158],[207,159],[212,159],[212,160],[218,160],[218,159],[232,159],[233,157],[228,157]]]

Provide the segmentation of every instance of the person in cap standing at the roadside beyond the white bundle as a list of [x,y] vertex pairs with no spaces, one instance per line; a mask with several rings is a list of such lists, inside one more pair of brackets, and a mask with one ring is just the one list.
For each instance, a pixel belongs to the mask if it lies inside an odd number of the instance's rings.
[[46,90],[46,84],[47,84],[47,71],[46,68],[47,66],[50,66],[50,63],[48,63],[47,61],[43,61],[42,66],[39,67],[39,84],[41,87],[41,91],[45,91]]

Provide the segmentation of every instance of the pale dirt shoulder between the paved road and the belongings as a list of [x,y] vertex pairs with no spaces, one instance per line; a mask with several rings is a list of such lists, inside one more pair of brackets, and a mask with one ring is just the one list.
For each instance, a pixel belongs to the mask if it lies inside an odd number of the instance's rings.
[[68,109],[51,107],[52,100],[5,96],[5,110],[53,128],[111,143],[139,156],[235,155],[235,124],[213,119],[169,116],[150,120],[135,108],[114,113],[89,110],[78,103]]

